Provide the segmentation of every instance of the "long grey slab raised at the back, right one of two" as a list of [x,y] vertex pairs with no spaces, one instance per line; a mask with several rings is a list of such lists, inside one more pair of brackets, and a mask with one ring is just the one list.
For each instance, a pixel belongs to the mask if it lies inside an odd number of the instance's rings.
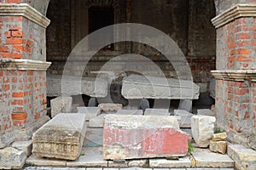
[[125,99],[198,99],[200,91],[192,81],[131,75],[123,80],[121,93]]

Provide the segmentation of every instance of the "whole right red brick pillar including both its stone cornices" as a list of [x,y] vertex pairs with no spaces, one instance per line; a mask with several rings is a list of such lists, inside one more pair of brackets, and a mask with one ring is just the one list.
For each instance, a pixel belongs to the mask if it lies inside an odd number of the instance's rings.
[[256,4],[236,4],[218,14],[216,111],[233,142],[256,147]]

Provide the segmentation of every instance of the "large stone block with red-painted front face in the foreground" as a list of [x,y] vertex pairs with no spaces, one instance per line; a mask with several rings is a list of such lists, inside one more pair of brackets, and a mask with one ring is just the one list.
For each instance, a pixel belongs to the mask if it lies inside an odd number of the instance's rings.
[[103,156],[108,160],[185,156],[189,136],[174,116],[107,115]]

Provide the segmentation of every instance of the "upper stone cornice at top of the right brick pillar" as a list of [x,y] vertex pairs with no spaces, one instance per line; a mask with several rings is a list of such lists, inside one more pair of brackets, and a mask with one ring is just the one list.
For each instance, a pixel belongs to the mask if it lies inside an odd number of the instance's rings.
[[215,18],[213,18],[212,24],[215,26],[215,28],[218,28],[240,17],[256,17],[256,4],[236,4],[236,6],[225,10],[223,13],[218,14]]

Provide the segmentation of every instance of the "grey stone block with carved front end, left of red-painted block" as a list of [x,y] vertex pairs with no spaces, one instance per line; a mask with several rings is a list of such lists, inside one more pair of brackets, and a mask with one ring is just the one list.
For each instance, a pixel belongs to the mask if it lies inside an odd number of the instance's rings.
[[84,114],[58,114],[33,134],[32,153],[35,156],[76,160],[80,156],[85,131]]

